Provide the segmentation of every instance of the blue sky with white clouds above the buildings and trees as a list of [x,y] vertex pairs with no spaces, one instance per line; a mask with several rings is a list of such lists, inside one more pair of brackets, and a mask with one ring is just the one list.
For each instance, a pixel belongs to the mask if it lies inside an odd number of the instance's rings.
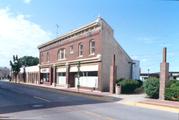
[[0,66],[13,55],[39,56],[37,46],[101,16],[141,72],[159,72],[167,47],[170,71],[179,71],[179,1],[0,0]]

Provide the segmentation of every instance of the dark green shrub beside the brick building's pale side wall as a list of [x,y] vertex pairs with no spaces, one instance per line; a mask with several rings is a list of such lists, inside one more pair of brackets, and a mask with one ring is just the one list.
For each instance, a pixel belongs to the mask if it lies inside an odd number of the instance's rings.
[[134,93],[135,89],[139,87],[137,80],[121,80],[117,84],[121,86],[121,92],[126,94]]

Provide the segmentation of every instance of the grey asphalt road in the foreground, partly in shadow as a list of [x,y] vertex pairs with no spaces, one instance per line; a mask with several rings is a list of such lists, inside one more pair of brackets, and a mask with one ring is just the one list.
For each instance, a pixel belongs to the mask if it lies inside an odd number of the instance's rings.
[[0,82],[0,120],[179,120],[179,114],[125,106],[103,97]]

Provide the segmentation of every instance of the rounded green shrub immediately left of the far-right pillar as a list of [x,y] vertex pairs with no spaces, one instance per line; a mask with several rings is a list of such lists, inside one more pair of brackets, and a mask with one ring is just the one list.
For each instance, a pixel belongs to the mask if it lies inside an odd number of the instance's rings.
[[144,81],[144,91],[150,98],[159,97],[159,79],[151,77]]

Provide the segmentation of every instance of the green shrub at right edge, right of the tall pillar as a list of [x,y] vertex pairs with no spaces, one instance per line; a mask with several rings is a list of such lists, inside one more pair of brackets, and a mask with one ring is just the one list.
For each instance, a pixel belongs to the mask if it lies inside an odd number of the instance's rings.
[[179,87],[166,88],[165,89],[165,99],[179,101]]

